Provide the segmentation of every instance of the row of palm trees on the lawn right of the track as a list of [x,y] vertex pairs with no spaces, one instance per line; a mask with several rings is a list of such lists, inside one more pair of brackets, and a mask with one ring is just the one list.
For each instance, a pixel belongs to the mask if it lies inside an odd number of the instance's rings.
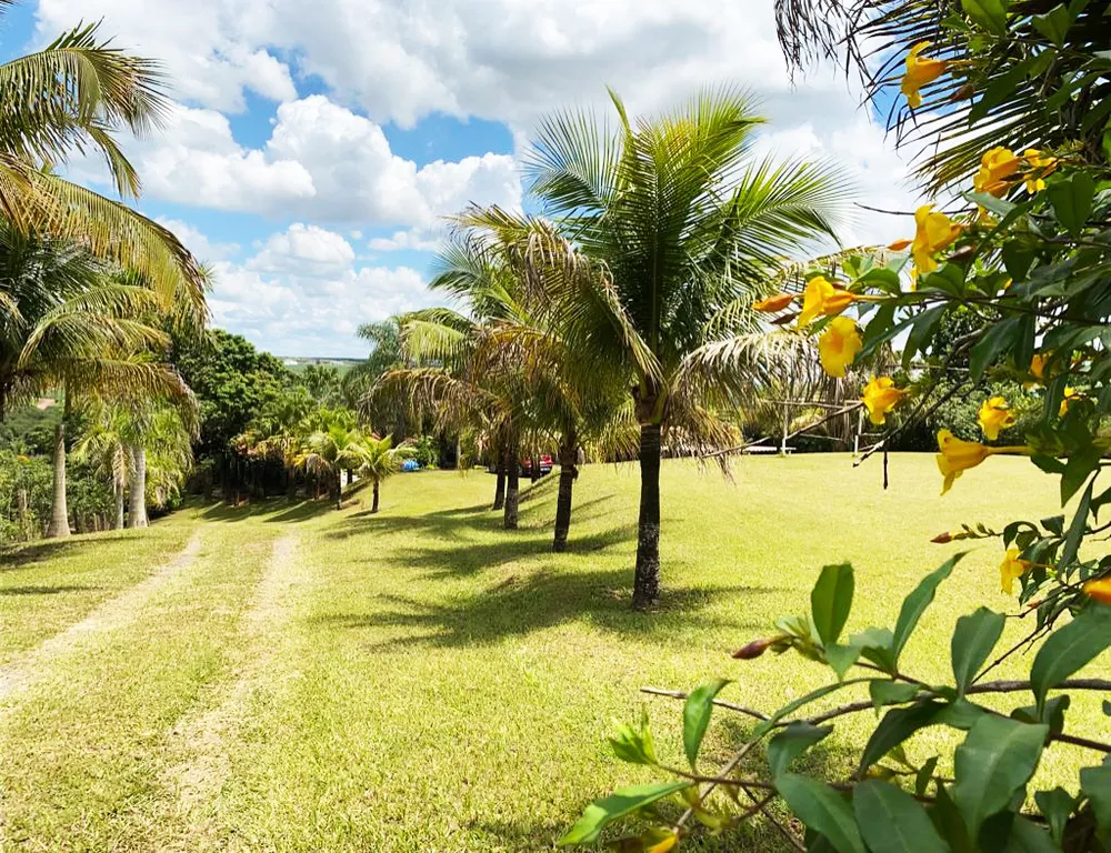
[[[441,429],[486,435],[517,526],[518,458],[561,463],[553,548],[567,546],[575,459],[635,453],[633,605],[660,585],[660,461],[738,439],[765,361],[751,310],[791,257],[835,240],[850,187],[832,165],[755,160],[749,98],[707,90],[655,119],[552,116],[526,155],[541,214],[464,211],[432,288],[463,302],[404,319],[404,365],[367,397],[406,397]],[[500,480],[500,479],[499,479]],[[499,486],[500,489],[500,486]]]

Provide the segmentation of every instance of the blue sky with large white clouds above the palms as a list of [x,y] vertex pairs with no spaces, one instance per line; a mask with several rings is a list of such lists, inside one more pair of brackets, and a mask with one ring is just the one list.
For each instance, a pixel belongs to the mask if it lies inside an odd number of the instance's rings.
[[[442,303],[446,217],[528,209],[518,163],[561,108],[653,113],[707,84],[749,90],[754,155],[843,164],[869,205],[912,210],[905,162],[843,73],[790,80],[772,0],[24,0],[6,57],[101,20],[162,62],[172,110],[124,139],[137,207],[214,272],[213,323],[287,357],[360,358],[360,323]],[[96,160],[68,174],[110,192]],[[844,245],[908,221],[853,209]]]

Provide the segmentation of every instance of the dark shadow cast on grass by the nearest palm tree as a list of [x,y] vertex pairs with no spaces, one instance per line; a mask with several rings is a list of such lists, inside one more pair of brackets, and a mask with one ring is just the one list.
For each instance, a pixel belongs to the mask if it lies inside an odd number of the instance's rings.
[[[321,614],[312,624],[333,629],[401,629],[403,635],[368,644],[372,651],[417,646],[458,649],[500,643],[564,623],[583,622],[618,635],[673,645],[691,631],[765,628],[763,621],[721,620],[707,612],[722,596],[764,595],[777,590],[752,586],[669,588],[652,613],[630,608],[631,572],[561,572],[542,569],[511,575],[466,599],[430,602],[411,595],[383,594],[364,611]],[[727,650],[723,650],[723,652]]]

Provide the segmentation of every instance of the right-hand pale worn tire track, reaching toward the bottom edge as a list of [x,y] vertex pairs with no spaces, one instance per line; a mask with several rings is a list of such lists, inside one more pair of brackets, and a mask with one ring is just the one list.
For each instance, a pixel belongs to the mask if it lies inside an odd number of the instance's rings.
[[237,731],[250,712],[252,698],[268,685],[287,629],[293,620],[292,596],[309,580],[297,559],[297,538],[277,540],[266,574],[259,581],[250,610],[243,618],[244,648],[234,678],[208,711],[186,719],[173,730],[177,747],[188,757],[172,767],[167,780],[176,792],[177,810],[188,827],[187,837],[170,850],[194,850],[203,836],[219,833],[217,801],[231,774],[230,752]]

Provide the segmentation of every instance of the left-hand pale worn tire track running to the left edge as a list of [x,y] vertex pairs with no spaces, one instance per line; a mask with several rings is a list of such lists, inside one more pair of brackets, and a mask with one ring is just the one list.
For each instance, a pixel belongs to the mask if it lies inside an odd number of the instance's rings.
[[156,570],[143,581],[110,599],[61,633],[54,634],[38,648],[24,652],[6,666],[0,666],[0,712],[11,706],[13,700],[26,693],[50,672],[51,661],[69,654],[92,636],[129,625],[142,606],[169,581],[193,564],[201,548],[201,533],[197,531],[181,552]]

